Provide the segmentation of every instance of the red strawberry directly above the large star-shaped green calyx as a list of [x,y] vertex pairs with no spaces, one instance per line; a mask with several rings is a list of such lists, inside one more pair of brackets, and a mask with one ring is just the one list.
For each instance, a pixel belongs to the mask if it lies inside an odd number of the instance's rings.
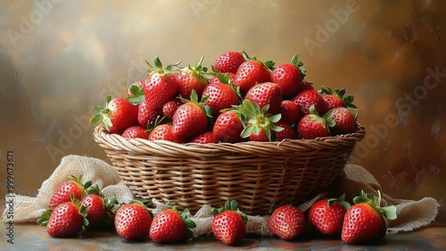
[[269,105],[268,113],[276,114],[279,112],[282,103],[282,92],[276,83],[264,82],[250,88],[245,98],[257,103],[260,109]]

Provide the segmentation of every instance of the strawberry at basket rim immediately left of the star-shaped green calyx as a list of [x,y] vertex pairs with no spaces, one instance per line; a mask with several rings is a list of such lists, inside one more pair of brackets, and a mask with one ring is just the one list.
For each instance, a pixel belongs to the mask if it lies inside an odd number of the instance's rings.
[[214,122],[213,132],[221,142],[236,143],[244,141],[242,131],[244,125],[235,110],[228,110],[219,114]]

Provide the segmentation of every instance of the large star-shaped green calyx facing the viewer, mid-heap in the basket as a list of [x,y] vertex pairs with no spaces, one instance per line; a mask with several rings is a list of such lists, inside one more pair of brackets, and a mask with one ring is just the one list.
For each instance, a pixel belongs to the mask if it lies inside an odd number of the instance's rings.
[[244,99],[242,105],[234,105],[233,107],[238,112],[244,126],[241,134],[242,138],[248,138],[252,133],[259,135],[260,131],[263,130],[269,141],[275,141],[275,134],[271,132],[284,130],[284,128],[276,125],[282,115],[280,113],[274,115],[268,113],[269,105],[260,109],[257,103]]

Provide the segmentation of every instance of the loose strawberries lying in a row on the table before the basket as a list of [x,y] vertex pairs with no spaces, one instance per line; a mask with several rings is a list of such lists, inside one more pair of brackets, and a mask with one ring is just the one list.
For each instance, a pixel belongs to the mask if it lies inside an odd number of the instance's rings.
[[[174,243],[194,238],[195,223],[188,218],[187,209],[178,212],[167,205],[153,215],[150,202],[118,203],[114,197],[104,197],[98,186],[82,177],[71,177],[62,182],[50,199],[50,210],[37,221],[46,227],[50,236],[63,238],[85,230],[115,230],[128,240],[151,238],[158,243]],[[280,205],[271,210],[268,228],[278,238],[292,240],[305,232],[317,231],[331,237],[340,237],[348,244],[360,244],[383,238],[384,217],[396,218],[394,206],[380,207],[378,197],[361,192],[350,205],[344,197],[321,199],[308,213],[293,205]],[[241,212],[236,201],[227,201],[212,208],[211,230],[215,238],[227,245],[238,244],[246,233],[249,217]]]

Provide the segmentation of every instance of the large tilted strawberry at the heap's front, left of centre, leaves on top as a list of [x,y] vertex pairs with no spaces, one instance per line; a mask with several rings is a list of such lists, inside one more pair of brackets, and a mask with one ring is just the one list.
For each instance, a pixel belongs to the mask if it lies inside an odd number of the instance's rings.
[[[205,102],[206,98],[204,98]],[[208,126],[208,114],[202,102],[198,102],[197,93],[193,90],[191,99],[180,105],[172,118],[172,133],[178,138],[193,138]],[[206,111],[208,110],[208,111]]]

